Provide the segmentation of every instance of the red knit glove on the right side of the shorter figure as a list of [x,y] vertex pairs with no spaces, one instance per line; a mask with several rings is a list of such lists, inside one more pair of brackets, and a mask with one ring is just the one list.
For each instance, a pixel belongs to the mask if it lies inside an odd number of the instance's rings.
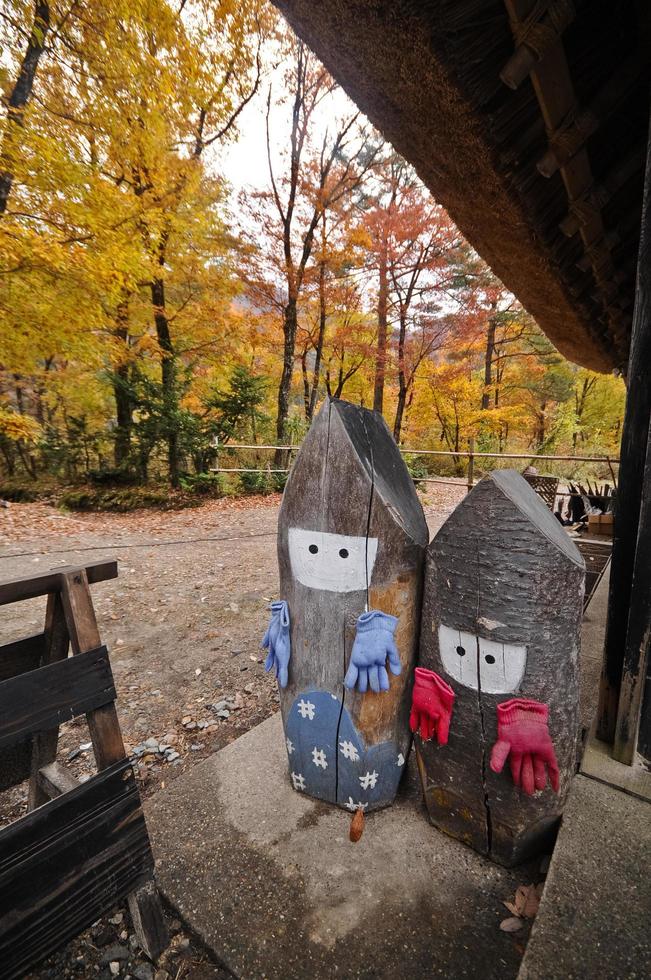
[[534,787],[544,789],[547,775],[558,793],[558,763],[549,735],[549,708],[539,701],[512,698],[497,706],[497,742],[491,752],[491,769],[501,772],[510,754],[513,782],[529,796]]

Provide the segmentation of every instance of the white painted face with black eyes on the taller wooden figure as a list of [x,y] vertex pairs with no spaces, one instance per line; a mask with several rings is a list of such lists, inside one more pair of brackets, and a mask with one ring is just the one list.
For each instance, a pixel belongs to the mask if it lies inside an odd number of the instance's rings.
[[361,592],[373,574],[377,538],[289,529],[292,574],[301,585],[327,592]]

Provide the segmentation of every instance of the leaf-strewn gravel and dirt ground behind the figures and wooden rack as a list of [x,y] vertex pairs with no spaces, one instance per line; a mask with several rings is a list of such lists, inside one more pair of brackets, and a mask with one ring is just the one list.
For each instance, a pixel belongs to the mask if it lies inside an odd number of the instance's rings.
[[[462,481],[458,489],[428,485],[423,504],[431,533],[463,494]],[[259,643],[278,590],[279,503],[278,496],[250,497],[126,515],[64,514],[44,504],[0,510],[4,580],[118,560],[118,578],[92,593],[111,654],[122,733],[145,797],[277,710]],[[1,607],[2,642],[39,632],[44,611],[43,599]],[[85,720],[61,729],[59,761],[77,778],[95,771],[89,741]],[[0,826],[25,812],[25,795],[20,786],[0,797]],[[226,976],[168,918],[173,939],[156,966],[139,952],[128,913],[119,908],[30,977]]]

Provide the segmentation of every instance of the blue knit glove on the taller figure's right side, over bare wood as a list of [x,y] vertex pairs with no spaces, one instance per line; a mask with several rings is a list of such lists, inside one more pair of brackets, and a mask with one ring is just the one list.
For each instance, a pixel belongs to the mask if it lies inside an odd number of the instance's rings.
[[357,635],[353,643],[350,664],[344,677],[344,685],[352,690],[357,684],[357,690],[362,694],[368,690],[388,691],[389,675],[386,660],[389,658],[389,669],[392,674],[401,671],[398,649],[393,639],[398,619],[377,609],[362,613],[357,620]]

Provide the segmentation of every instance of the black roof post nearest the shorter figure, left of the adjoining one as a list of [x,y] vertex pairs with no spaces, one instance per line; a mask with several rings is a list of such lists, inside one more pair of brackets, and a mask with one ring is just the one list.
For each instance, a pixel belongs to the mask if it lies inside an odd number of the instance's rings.
[[647,433],[651,418],[651,131],[647,146],[635,309],[626,386],[628,391],[615,501],[606,643],[597,713],[597,736],[604,742],[613,741],[617,725],[642,506]]

